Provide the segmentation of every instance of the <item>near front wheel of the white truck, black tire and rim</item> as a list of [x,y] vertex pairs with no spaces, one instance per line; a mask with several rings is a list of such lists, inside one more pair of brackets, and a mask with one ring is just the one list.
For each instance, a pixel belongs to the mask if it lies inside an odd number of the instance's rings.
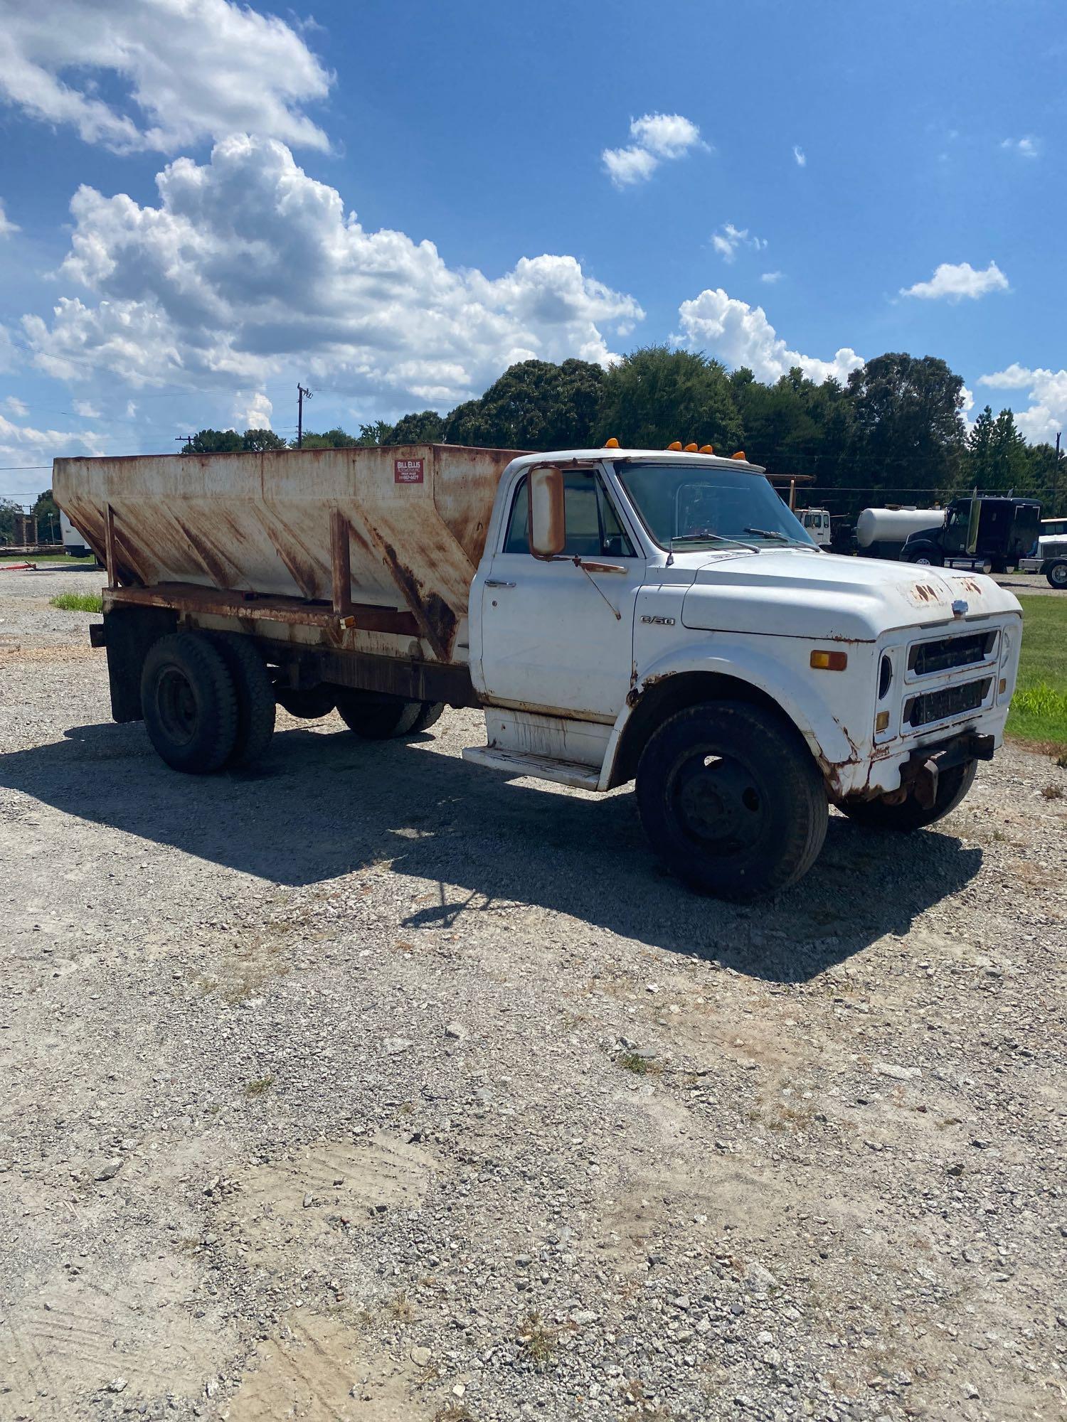
[[741,701],[679,711],[637,765],[637,806],[663,863],[704,893],[747,902],[788,889],[827,836],[827,792],[780,715]]

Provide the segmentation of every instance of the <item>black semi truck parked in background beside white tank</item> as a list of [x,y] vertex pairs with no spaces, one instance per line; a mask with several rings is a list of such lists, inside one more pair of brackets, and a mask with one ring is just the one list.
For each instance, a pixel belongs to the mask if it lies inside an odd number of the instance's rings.
[[1041,505],[1034,499],[953,499],[939,525],[908,536],[901,557],[935,567],[1006,573],[1033,550],[1040,520]]

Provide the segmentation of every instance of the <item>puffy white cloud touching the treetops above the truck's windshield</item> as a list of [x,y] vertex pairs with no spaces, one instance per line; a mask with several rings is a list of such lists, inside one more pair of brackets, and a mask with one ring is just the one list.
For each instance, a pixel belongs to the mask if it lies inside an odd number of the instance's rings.
[[681,334],[674,337],[676,341],[717,356],[734,368],[747,365],[757,380],[775,381],[800,365],[811,380],[821,383],[832,375],[844,383],[849,371],[864,364],[849,347],[842,347],[828,361],[790,350],[761,306],[738,301],[721,287],[683,301],[679,319]]

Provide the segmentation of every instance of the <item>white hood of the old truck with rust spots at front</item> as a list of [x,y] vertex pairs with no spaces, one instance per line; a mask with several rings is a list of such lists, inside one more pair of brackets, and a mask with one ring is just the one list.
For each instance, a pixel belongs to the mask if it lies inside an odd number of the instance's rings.
[[[960,602],[966,609],[953,611]],[[983,573],[775,549],[720,555],[697,567],[681,623],[708,631],[875,641],[895,627],[996,613],[1020,613],[1019,602]]]

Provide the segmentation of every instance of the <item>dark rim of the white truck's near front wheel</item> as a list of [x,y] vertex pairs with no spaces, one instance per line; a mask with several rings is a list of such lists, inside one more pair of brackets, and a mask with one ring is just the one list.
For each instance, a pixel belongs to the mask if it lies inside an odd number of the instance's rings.
[[741,855],[767,826],[767,795],[755,775],[707,747],[674,769],[669,795],[683,835],[708,855]]

